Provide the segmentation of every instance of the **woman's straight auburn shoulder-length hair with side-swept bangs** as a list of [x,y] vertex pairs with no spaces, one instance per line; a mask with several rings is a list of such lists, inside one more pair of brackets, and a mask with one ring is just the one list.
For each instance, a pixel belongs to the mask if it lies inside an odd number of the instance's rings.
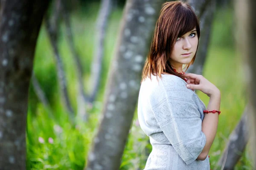
[[[174,71],[169,62],[169,58],[172,54],[177,37],[181,37],[194,28],[196,28],[199,43],[199,20],[188,3],[172,1],[162,5],[155,26],[150,51],[143,68],[142,81],[147,77],[151,79],[151,74],[161,78],[163,72],[184,78],[183,75]],[[190,63],[186,64],[186,70],[194,63],[195,56]]]

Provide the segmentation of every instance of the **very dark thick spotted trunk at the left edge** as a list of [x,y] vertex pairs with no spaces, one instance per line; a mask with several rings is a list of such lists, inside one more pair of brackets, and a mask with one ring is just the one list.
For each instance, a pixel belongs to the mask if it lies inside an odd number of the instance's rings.
[[29,82],[49,0],[0,3],[0,169],[25,170]]

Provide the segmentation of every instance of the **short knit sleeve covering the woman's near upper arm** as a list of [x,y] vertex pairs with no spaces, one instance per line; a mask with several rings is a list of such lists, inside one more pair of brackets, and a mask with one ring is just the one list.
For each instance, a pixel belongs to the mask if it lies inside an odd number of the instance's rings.
[[206,144],[198,105],[192,100],[195,94],[188,90],[164,89],[161,101],[151,103],[158,125],[186,164],[195,161]]

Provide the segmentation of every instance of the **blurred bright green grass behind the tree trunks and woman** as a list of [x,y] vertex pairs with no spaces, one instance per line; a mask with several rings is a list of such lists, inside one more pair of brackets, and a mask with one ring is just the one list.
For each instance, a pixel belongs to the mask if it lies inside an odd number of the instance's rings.
[[[86,91],[90,91],[90,63],[93,57],[93,43],[95,35],[95,18],[99,6],[93,4],[86,12],[78,10],[72,15],[72,26],[77,52],[84,66],[84,84]],[[49,39],[44,27],[41,29],[35,52],[34,71],[44,90],[52,109],[49,115],[38,101],[32,86],[29,91],[29,111],[27,119],[27,169],[28,170],[82,170],[86,165],[87,154],[91,148],[93,136],[99,126],[99,116],[103,105],[105,84],[108,68],[113,56],[122,10],[111,14],[105,43],[102,79],[99,94],[93,107],[87,110],[89,121],[85,124],[79,120],[72,127],[68,120],[68,113],[61,101],[55,59]],[[76,66],[72,59],[67,39],[61,26],[59,50],[67,73],[68,93],[72,106],[76,111],[77,75]],[[239,122],[241,113],[247,103],[246,87],[244,86],[241,58],[236,55],[232,39],[232,12],[218,11],[211,34],[211,43],[204,66],[203,75],[221,90],[221,115],[219,117],[218,132],[209,155],[211,168],[216,168],[217,161],[224,150],[228,136]],[[199,97],[207,105],[209,98],[202,92]],[[145,166],[145,147],[151,150],[148,137],[136,124],[137,111],[129,133],[125,152],[122,156],[121,170],[137,170]],[[44,139],[44,143],[39,142]],[[53,143],[48,139],[52,138]],[[248,150],[248,149],[247,149]],[[235,170],[251,169],[250,156],[244,152]]]

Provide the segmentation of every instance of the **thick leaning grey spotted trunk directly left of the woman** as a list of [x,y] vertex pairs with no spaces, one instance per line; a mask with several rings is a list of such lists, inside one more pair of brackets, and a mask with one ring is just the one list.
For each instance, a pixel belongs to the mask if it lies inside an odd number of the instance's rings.
[[141,72],[164,2],[126,2],[108,76],[101,124],[88,156],[87,170],[117,170],[120,167],[139,95]]

